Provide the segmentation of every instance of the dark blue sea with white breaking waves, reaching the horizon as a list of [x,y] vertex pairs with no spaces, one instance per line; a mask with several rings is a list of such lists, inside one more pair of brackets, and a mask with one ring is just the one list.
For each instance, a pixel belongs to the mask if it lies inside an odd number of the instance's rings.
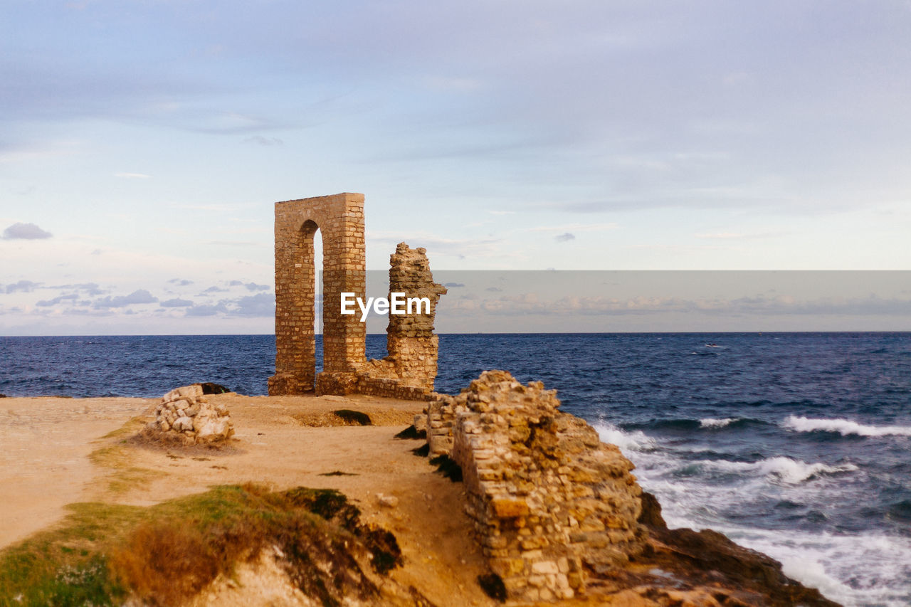
[[[274,353],[273,335],[0,337],[0,393],[262,395]],[[844,605],[911,605],[911,333],[440,335],[439,392],[492,368],[557,389],[671,527],[721,531]]]

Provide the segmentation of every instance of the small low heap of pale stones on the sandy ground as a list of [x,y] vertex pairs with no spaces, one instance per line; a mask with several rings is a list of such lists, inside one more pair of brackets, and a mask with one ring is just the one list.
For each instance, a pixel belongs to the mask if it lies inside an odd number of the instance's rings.
[[161,398],[147,432],[186,444],[211,444],[233,436],[234,424],[226,406],[206,402],[202,386],[193,384],[175,388]]

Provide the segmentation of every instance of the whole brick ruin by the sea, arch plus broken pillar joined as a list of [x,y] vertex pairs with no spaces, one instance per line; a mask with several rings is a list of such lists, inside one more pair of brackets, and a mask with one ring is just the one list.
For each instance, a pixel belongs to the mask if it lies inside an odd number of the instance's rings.
[[[313,236],[322,235],[322,360],[315,374]],[[404,242],[391,256],[391,292],[426,296],[430,314],[390,315],[389,355],[366,360],[366,326],[341,314],[342,293],[366,289],[363,194],[342,193],[275,203],[275,375],[270,396],[311,392],[423,399],[433,390],[436,303],[446,292],[433,282],[424,249]]]

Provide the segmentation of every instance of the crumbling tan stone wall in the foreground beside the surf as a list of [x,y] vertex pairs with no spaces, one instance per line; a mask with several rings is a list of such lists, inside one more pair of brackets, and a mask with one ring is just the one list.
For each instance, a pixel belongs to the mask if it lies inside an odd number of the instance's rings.
[[431,451],[462,468],[466,512],[515,600],[584,593],[586,571],[622,564],[644,545],[630,460],[558,406],[555,391],[505,371],[428,406]]

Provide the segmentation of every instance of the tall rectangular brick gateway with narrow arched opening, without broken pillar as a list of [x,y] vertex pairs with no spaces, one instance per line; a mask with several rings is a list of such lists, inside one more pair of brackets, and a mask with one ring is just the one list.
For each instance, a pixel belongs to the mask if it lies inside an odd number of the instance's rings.
[[322,360],[317,392],[356,381],[365,360],[366,329],[341,314],[341,293],[365,290],[363,194],[343,193],[275,203],[275,375],[270,395],[314,388],[313,234],[322,234]]

